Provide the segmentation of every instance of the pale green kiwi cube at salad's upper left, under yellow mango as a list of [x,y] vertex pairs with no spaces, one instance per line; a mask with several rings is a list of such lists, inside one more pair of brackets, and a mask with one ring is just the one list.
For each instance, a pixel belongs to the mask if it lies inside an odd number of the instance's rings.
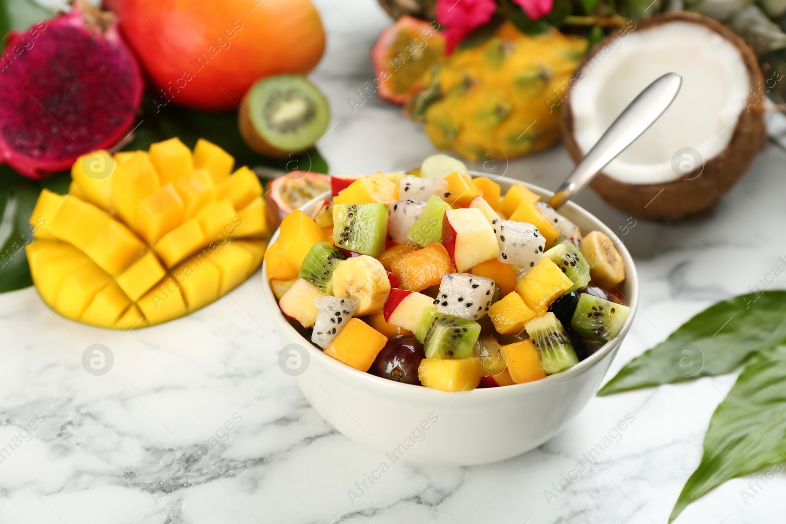
[[347,251],[378,257],[385,250],[387,206],[384,203],[333,205],[333,242]]

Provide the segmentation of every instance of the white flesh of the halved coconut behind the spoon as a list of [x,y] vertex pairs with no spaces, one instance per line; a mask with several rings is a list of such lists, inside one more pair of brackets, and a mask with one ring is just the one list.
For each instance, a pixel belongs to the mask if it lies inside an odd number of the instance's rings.
[[[692,178],[694,148],[704,162],[732,138],[751,89],[747,69],[733,43],[700,24],[670,22],[631,31],[602,49],[582,69],[571,91],[575,139],[586,153],[623,109],[652,81],[670,71],[682,86],[670,107],[604,173],[629,184]],[[700,169],[700,161],[696,163]]]

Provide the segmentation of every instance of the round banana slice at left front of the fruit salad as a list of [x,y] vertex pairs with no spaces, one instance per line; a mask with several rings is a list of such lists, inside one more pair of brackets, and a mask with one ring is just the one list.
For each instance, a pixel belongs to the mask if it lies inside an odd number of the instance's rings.
[[342,260],[333,271],[333,295],[341,299],[355,299],[355,317],[379,313],[391,291],[382,262],[368,255]]

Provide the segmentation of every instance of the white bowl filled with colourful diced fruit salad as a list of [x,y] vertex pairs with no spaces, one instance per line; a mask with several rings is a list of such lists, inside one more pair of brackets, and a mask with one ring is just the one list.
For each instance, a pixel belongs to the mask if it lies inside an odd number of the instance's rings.
[[331,182],[263,265],[280,361],[314,409],[387,467],[485,464],[562,431],[633,321],[636,269],[612,231],[443,155]]

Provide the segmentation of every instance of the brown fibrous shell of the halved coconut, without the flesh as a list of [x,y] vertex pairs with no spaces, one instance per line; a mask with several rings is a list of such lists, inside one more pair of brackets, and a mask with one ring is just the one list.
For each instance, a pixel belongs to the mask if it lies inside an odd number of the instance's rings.
[[[692,180],[678,179],[665,184],[628,184],[601,173],[589,185],[598,195],[612,206],[641,218],[656,220],[677,220],[689,214],[695,214],[712,207],[722,195],[728,192],[751,165],[756,153],[762,148],[766,139],[764,127],[764,79],[753,50],[742,38],[735,35],[723,24],[697,13],[663,13],[645,20],[637,20],[634,31],[645,31],[649,27],[671,22],[690,22],[709,27],[740,50],[750,78],[751,91],[747,97],[746,108],[742,109],[740,118],[729,145],[712,159],[705,159],[703,171]],[[626,29],[615,31],[594,46],[579,68],[571,85],[577,81],[579,71],[589,60],[611,42],[612,38],[622,38]],[[562,108],[562,130],[565,148],[571,159],[578,163],[584,153],[578,147],[574,136],[573,114],[571,112],[570,91]],[[692,178],[693,174],[685,175]]]

